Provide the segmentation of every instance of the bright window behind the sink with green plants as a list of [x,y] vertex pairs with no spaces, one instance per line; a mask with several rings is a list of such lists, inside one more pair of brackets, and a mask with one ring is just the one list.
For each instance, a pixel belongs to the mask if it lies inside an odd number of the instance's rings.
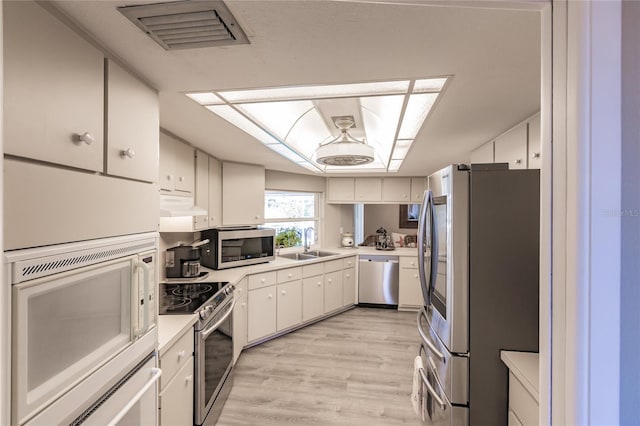
[[265,225],[276,230],[276,247],[302,246],[307,228],[314,231],[311,243],[319,242],[317,193],[267,191],[264,211]]

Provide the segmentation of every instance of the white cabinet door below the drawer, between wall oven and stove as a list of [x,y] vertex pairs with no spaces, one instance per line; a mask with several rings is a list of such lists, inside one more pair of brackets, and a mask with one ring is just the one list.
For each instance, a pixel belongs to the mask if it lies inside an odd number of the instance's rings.
[[160,424],[193,424],[193,356],[160,394]]

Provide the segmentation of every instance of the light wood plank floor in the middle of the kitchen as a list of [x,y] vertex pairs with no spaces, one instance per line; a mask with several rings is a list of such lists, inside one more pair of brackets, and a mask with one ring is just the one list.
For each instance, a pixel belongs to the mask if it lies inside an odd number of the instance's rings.
[[356,308],[243,351],[217,425],[420,425],[415,318]]

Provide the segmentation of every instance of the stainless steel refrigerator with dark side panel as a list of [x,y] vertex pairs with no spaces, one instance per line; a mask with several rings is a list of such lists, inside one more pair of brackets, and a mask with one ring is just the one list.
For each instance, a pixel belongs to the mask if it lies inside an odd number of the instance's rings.
[[424,424],[507,425],[500,350],[538,351],[538,170],[429,176],[418,229]]

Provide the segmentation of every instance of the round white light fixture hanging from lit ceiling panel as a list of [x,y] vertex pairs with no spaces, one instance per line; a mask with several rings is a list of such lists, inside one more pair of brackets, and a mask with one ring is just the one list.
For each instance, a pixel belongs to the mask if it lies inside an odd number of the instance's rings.
[[353,116],[332,117],[333,123],[340,129],[340,135],[318,147],[314,161],[325,166],[361,166],[374,160],[375,150],[366,141],[351,136],[348,130],[353,127]]

